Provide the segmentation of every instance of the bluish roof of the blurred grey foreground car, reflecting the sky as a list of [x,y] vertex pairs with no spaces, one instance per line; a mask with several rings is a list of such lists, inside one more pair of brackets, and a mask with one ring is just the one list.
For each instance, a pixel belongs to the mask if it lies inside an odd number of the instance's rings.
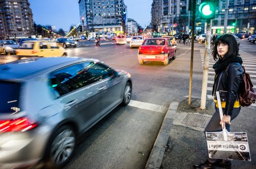
[[37,74],[41,74],[82,61],[99,60],[77,57],[30,58],[16,60],[0,65],[0,79],[26,80],[28,78],[36,76]]

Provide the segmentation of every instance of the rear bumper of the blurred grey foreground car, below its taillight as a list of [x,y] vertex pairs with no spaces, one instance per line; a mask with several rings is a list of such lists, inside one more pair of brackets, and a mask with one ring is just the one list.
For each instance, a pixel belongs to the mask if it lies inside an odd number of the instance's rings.
[[37,127],[33,131],[0,135],[0,168],[28,167],[42,159],[49,130]]

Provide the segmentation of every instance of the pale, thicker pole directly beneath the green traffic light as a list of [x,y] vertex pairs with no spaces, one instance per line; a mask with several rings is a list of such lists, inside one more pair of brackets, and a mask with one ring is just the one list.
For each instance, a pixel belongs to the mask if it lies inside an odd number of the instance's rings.
[[202,94],[201,94],[201,106],[202,110],[205,109],[206,96],[207,96],[207,81],[208,81],[208,70],[209,70],[209,57],[211,52],[211,29],[212,20],[206,21],[206,41],[205,41],[205,52],[204,52],[204,66],[203,66],[203,82],[202,82]]

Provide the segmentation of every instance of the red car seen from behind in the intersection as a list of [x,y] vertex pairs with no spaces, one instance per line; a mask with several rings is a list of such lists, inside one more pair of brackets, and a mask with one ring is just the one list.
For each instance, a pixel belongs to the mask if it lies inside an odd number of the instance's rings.
[[140,65],[145,61],[161,61],[164,65],[169,64],[169,60],[175,59],[176,46],[167,38],[147,38],[139,47],[138,59]]

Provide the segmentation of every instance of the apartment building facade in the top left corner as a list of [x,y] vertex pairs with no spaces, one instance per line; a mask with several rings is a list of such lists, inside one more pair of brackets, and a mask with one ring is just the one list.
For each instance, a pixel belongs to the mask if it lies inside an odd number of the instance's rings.
[[28,0],[0,0],[0,38],[34,35],[33,13]]

